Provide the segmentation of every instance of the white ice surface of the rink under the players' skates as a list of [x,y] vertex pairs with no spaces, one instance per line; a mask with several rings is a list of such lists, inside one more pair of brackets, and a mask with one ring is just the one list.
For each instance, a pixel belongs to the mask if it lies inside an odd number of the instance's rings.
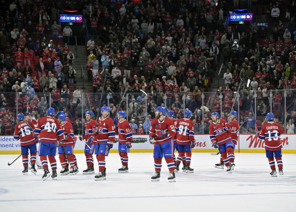
[[119,155],[109,154],[104,181],[94,181],[94,174],[82,174],[84,154],[76,154],[80,172],[73,176],[60,175],[57,155],[57,180],[49,177],[44,182],[40,169],[36,175],[30,170],[22,174],[21,158],[7,166],[17,156],[0,155],[1,212],[296,211],[296,154],[283,154],[284,175],[275,178],[269,176],[265,154],[236,153],[235,170],[228,174],[214,167],[219,156],[192,153],[194,173],[180,171],[176,182],[168,182],[164,159],[160,181],[151,182],[152,153],[129,153],[129,173],[118,173]]

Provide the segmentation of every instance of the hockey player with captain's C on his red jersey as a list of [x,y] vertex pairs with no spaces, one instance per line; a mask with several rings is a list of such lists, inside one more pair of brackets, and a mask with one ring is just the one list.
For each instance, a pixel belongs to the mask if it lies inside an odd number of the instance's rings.
[[210,139],[214,148],[218,149],[222,155],[223,162],[227,168],[227,172],[231,173],[231,166],[229,162],[234,162],[234,158],[228,159],[228,155],[233,154],[232,139],[230,137],[230,124],[224,119],[219,118],[217,112],[212,113],[212,123],[209,126]]

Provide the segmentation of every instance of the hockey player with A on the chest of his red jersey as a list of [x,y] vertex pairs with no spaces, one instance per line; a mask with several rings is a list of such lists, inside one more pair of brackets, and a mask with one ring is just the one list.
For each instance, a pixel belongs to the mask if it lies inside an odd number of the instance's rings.
[[92,128],[93,135],[88,138],[88,143],[94,139],[97,140],[95,152],[97,153],[99,173],[95,176],[95,180],[106,179],[105,156],[108,156],[115,139],[114,123],[112,118],[108,118],[109,107],[103,106],[101,114],[102,116],[97,119],[95,127]]

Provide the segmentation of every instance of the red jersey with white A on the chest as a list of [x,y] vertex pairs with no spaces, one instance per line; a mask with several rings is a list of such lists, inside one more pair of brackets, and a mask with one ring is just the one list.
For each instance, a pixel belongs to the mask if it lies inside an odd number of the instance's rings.
[[94,134],[97,138],[98,143],[112,141],[115,139],[114,123],[112,118],[102,119],[99,117],[97,119],[98,132]]

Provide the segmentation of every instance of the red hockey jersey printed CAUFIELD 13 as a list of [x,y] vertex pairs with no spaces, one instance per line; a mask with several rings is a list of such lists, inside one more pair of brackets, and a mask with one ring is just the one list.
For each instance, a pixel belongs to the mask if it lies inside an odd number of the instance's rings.
[[281,139],[282,127],[279,123],[267,122],[261,127],[258,138],[264,140],[265,150],[277,151],[283,148]]

